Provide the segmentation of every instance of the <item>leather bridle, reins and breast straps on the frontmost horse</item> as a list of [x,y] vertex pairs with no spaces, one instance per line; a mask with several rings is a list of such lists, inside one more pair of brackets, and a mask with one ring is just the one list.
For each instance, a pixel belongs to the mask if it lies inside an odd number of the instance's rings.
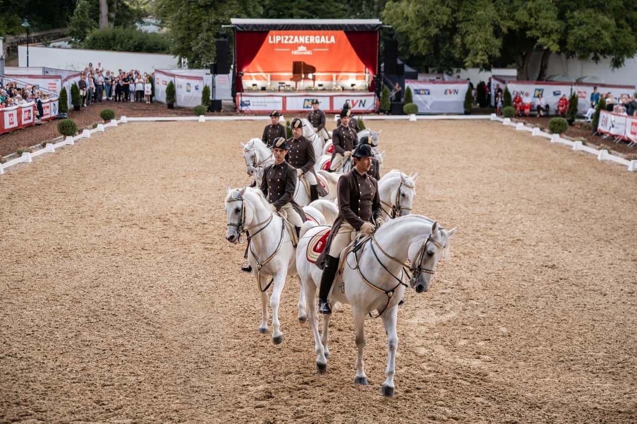
[[[440,229],[442,229],[442,228],[440,228]],[[371,236],[368,237],[367,241],[369,241],[369,239],[371,239],[371,241],[372,241],[371,251],[372,251],[372,253],[374,253],[374,257],[376,258],[376,261],[378,262],[378,264],[380,264],[380,266],[382,266],[383,269],[385,269],[385,271],[387,271],[387,273],[390,276],[392,276],[394,279],[396,279],[396,281],[398,281],[398,284],[395,285],[390,290],[385,290],[384,288],[376,286],[374,283],[369,281],[362,274],[361,267],[359,266],[360,258],[357,257],[357,255],[356,255],[356,253],[354,251],[356,269],[357,269],[357,271],[359,273],[359,276],[361,276],[362,281],[364,281],[364,283],[366,283],[366,285],[370,286],[371,288],[373,288],[375,290],[378,290],[379,292],[385,293],[385,295],[387,296],[387,304],[385,305],[385,307],[383,307],[383,310],[380,311],[378,313],[378,315],[376,315],[376,316],[373,316],[371,313],[369,313],[369,316],[371,316],[371,318],[378,318],[379,316],[381,316],[383,314],[383,312],[385,312],[385,310],[389,306],[389,302],[392,300],[392,296],[394,295],[394,292],[396,292],[396,289],[399,288],[399,286],[401,286],[401,285],[403,285],[405,287],[407,286],[405,283],[403,283],[403,274],[407,274],[407,276],[409,277],[409,285],[410,285],[411,288],[413,288],[413,286],[416,285],[416,281],[419,278],[421,272],[426,272],[427,274],[435,274],[436,273],[436,271],[434,271],[433,269],[428,269],[428,268],[423,268],[422,267],[422,260],[424,260],[424,255],[425,255],[427,243],[429,241],[431,241],[431,243],[433,243],[434,246],[436,246],[436,247],[438,247],[440,249],[443,248],[443,246],[440,243],[438,243],[437,241],[435,241],[432,236],[433,236],[433,234],[429,233],[429,235],[427,237],[425,237],[424,241],[422,242],[422,245],[420,246],[419,250],[416,253],[416,257],[413,260],[413,265],[411,265],[411,266],[408,265],[408,264],[405,264],[404,262],[401,262],[400,260],[394,258],[392,255],[387,253],[385,250],[383,250],[383,248],[380,246],[380,244],[378,244],[378,241],[376,240],[376,237],[374,237],[373,234],[371,234]],[[366,241],[364,243],[366,243]],[[363,246],[364,243],[362,243],[361,246],[359,246],[359,248],[357,250],[360,250],[362,252],[362,246]],[[389,271],[389,269],[387,269],[387,267],[385,267],[385,264],[383,264],[383,262],[381,262],[380,258],[378,258],[378,255],[376,255],[376,251],[374,250],[374,244],[376,244],[376,247],[383,253],[383,255],[385,255],[386,257],[390,258],[391,260],[393,260],[397,264],[401,265],[401,276],[400,276],[400,278],[398,278],[391,271]]]

